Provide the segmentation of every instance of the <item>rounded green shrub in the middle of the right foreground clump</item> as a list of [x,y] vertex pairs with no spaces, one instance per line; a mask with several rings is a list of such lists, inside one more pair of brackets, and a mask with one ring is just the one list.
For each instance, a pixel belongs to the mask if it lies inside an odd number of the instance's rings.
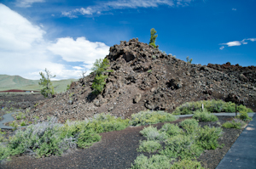
[[179,134],[166,140],[166,147],[160,151],[160,154],[166,155],[169,159],[177,157],[189,159],[201,155],[202,151],[203,149],[195,144],[192,136]]

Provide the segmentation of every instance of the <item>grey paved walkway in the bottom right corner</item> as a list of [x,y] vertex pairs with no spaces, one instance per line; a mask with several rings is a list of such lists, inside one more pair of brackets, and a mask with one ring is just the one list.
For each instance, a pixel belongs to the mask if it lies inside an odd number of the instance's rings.
[[216,167],[216,169],[236,168],[256,168],[256,115]]

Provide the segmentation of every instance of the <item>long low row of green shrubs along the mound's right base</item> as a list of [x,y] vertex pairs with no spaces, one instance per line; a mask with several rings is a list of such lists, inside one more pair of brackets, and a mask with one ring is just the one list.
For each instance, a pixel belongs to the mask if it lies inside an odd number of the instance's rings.
[[[174,110],[173,115],[189,115],[194,114],[196,110],[201,110],[201,104],[204,104],[204,109],[210,112],[236,112],[236,104],[232,102],[224,102],[223,100],[201,100],[197,102],[187,102],[182,104]],[[253,112],[253,110],[247,108],[244,105],[238,105],[237,110],[239,112]]]

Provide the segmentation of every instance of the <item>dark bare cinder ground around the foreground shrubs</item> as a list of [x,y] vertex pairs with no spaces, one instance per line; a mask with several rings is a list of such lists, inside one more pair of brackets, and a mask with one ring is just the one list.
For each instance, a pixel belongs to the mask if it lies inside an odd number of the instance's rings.
[[[178,123],[185,118],[180,118],[172,123]],[[218,116],[218,121],[223,124],[230,121],[230,117]],[[160,128],[164,123],[154,126]],[[201,126],[218,126],[216,122],[200,122]],[[143,127],[127,127],[123,131],[102,133],[102,141],[94,144],[89,149],[77,149],[60,156],[35,159],[28,155],[11,157],[11,161],[1,164],[0,168],[130,168],[131,163],[142,153],[137,152],[139,140],[143,136],[139,133]],[[231,145],[240,135],[240,129],[225,129],[219,144],[225,144],[222,149],[206,150],[198,158],[202,166],[212,169],[218,166]],[[144,155],[149,156],[147,153]]]

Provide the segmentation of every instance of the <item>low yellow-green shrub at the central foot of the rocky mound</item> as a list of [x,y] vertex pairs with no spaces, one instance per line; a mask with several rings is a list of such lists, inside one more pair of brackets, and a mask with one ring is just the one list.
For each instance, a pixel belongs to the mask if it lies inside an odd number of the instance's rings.
[[176,121],[177,117],[166,113],[164,111],[140,111],[136,114],[131,115],[131,121],[129,124],[131,126],[141,126],[141,125],[148,125],[148,124],[155,124],[159,122],[166,122],[166,121]]

